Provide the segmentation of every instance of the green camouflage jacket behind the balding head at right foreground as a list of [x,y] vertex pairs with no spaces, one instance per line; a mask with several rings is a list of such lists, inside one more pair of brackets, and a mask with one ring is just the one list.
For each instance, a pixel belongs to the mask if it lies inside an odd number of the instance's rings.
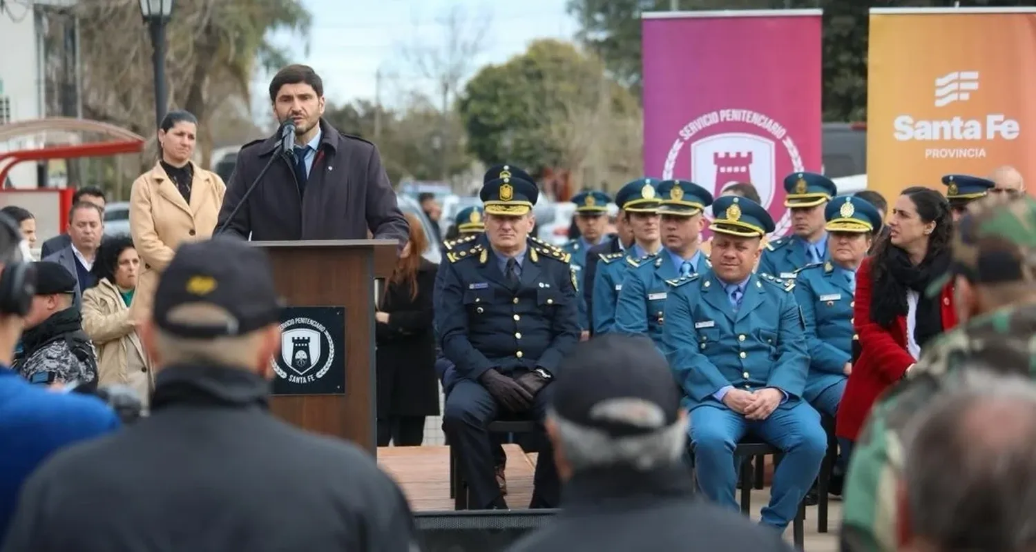
[[902,470],[899,432],[940,390],[943,376],[967,361],[1036,379],[1036,306],[1010,307],[969,320],[929,344],[905,381],[874,405],[845,480],[842,550],[894,551]]

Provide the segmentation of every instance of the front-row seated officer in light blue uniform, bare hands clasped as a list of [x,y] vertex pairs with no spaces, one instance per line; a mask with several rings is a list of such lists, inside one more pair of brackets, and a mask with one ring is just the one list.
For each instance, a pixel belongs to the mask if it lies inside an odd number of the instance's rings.
[[746,436],[784,452],[762,524],[795,519],[827,451],[821,415],[802,399],[809,370],[793,283],[753,273],[759,241],[774,230],[759,204],[713,203],[712,270],[667,282],[662,349],[684,390],[701,491],[738,509],[733,448]]

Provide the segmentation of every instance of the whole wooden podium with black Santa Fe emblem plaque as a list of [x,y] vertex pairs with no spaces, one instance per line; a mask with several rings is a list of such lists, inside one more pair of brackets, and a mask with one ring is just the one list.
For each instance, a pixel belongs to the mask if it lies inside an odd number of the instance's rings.
[[[310,431],[375,442],[375,279],[387,279],[387,239],[254,241],[266,250],[285,299],[272,412]],[[344,350],[342,350],[344,349]]]

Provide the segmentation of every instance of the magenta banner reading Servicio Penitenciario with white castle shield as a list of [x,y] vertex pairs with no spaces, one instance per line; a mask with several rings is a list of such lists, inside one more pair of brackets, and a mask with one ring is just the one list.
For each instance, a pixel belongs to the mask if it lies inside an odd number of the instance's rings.
[[751,182],[788,233],[784,177],[821,172],[822,10],[643,14],[644,172]]

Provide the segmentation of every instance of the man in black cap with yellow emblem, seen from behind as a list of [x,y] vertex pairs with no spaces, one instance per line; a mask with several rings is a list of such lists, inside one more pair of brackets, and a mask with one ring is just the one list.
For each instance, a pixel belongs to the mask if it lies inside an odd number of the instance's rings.
[[261,250],[181,245],[141,328],[151,415],[41,466],[4,550],[416,550],[370,457],[268,412],[280,312]]

